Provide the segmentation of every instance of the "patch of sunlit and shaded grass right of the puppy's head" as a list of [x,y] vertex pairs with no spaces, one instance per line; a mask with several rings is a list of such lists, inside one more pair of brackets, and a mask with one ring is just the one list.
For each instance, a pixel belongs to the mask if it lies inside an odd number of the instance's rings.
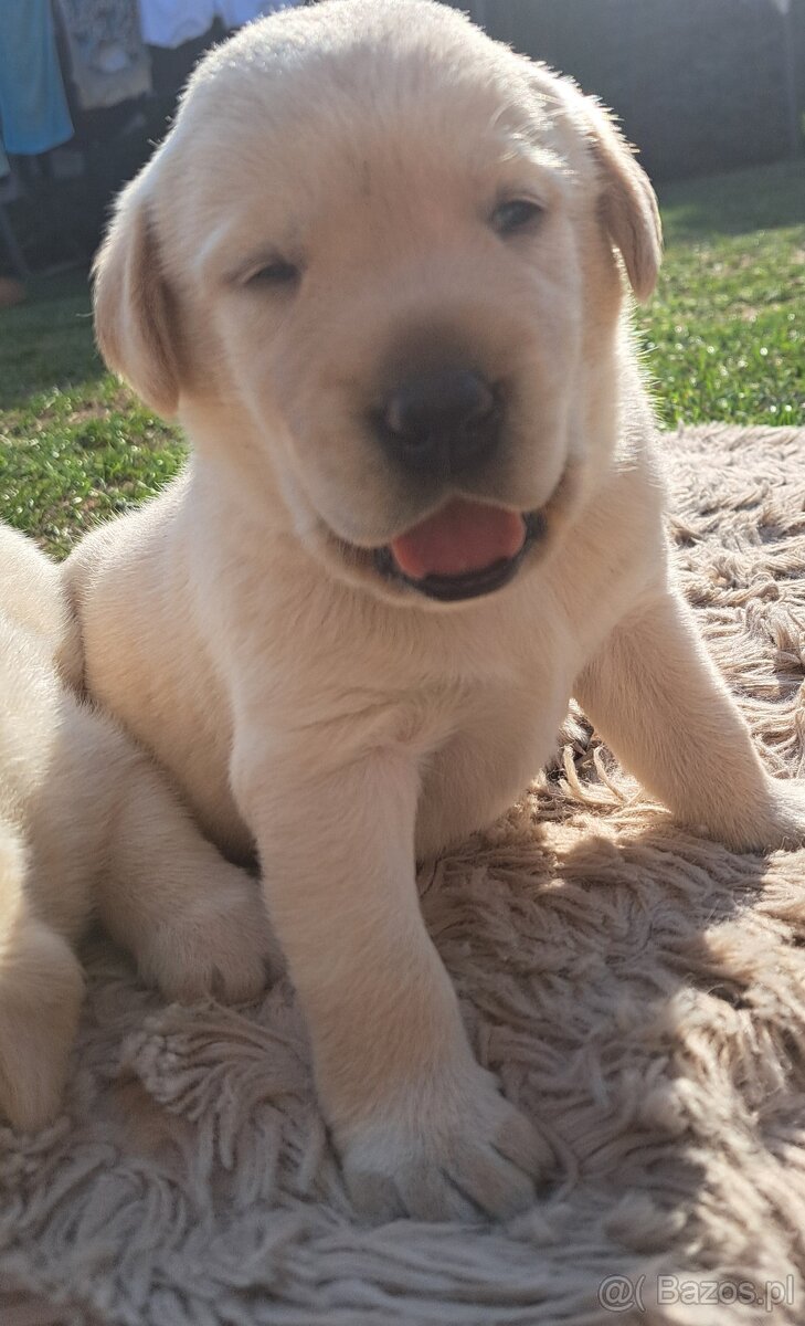
[[667,187],[666,263],[638,313],[667,424],[805,424],[805,164]]

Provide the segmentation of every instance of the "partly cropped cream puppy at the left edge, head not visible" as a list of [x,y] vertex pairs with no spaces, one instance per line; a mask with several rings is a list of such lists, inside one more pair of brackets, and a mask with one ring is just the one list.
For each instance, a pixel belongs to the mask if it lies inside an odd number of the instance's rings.
[[79,676],[56,565],[0,526],[0,1116],[26,1131],[58,1110],[93,912],[169,998],[250,997],[270,948],[253,882],[70,693]]

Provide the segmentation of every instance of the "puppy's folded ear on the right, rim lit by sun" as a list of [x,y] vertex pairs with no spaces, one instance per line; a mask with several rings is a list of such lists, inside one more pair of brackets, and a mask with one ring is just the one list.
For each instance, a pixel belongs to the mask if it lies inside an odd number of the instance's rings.
[[647,300],[662,261],[657,196],[609,111],[592,97],[581,101],[584,133],[604,186],[601,220],[620,249],[636,297]]

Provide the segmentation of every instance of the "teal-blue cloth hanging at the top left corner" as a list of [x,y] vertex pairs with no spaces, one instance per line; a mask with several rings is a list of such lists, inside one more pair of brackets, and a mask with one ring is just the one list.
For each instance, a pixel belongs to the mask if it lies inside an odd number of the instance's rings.
[[0,133],[26,156],[73,137],[50,0],[0,0]]

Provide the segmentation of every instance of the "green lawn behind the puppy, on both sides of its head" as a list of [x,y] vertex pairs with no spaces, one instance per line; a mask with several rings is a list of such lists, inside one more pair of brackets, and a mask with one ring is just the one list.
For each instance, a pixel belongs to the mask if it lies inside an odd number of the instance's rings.
[[[805,424],[805,166],[674,184],[661,204],[665,269],[637,314],[661,419]],[[0,312],[0,518],[64,554],[183,455],[103,371],[83,274]]]

